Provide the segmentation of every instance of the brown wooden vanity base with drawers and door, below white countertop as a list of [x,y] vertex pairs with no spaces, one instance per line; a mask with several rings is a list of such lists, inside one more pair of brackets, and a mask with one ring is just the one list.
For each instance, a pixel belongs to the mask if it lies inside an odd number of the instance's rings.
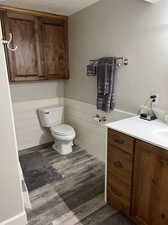
[[108,128],[107,202],[139,225],[168,225],[168,151]]

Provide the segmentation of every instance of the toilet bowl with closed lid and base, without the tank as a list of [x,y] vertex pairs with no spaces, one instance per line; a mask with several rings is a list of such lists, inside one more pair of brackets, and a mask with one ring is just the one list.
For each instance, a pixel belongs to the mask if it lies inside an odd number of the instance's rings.
[[72,152],[73,139],[75,138],[74,129],[67,124],[60,124],[50,128],[54,137],[53,149],[61,155]]

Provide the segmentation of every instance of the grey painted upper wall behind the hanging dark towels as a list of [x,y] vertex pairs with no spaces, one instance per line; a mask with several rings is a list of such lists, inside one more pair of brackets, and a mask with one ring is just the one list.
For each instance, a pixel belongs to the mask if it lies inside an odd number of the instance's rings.
[[126,56],[118,72],[117,108],[136,113],[151,93],[168,110],[168,1],[101,0],[69,19],[70,80],[65,97],[94,104],[96,77],[90,59]]

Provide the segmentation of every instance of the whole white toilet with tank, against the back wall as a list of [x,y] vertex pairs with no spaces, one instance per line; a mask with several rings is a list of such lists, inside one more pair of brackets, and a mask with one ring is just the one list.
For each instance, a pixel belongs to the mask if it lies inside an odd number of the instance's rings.
[[41,125],[48,127],[54,137],[53,149],[61,155],[71,153],[75,130],[73,127],[64,124],[64,107],[53,106],[41,108],[38,111]]

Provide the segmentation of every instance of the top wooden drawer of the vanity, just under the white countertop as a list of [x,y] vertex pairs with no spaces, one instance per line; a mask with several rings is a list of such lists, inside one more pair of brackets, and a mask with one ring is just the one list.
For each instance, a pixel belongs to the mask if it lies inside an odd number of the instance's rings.
[[125,152],[133,154],[134,138],[128,135],[122,134],[109,128],[108,143],[122,149]]

